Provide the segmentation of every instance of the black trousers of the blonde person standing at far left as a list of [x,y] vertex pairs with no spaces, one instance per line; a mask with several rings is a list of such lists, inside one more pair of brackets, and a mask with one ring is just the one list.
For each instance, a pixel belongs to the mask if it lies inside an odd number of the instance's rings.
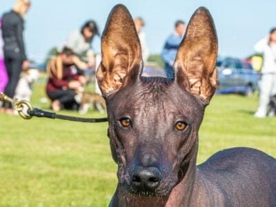
[[[5,88],[5,94],[13,98],[17,83],[19,82],[23,58],[19,53],[4,51],[4,62],[8,73],[8,84]],[[12,105],[8,102],[4,103],[3,106],[5,108],[12,108]]]

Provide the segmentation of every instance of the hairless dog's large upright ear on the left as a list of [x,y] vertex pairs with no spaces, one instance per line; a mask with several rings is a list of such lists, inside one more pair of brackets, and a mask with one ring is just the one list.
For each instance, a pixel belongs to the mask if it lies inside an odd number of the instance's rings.
[[97,80],[103,96],[119,90],[141,75],[141,46],[128,9],[119,4],[109,14],[101,37],[101,64]]

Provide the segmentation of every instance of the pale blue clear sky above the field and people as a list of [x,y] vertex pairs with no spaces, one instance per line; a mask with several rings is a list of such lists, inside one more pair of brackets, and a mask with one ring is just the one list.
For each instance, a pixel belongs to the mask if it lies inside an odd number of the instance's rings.
[[[15,0],[1,0],[0,14],[10,10]],[[102,31],[108,14],[117,3],[124,3],[132,17],[146,21],[146,40],[150,53],[159,53],[177,19],[188,22],[199,6],[210,10],[219,39],[219,55],[247,57],[253,45],[276,26],[275,0],[32,0],[26,16],[25,40],[28,57],[43,61],[53,46],[59,46],[70,32],[88,19],[95,19]],[[93,42],[100,52],[99,38]]]

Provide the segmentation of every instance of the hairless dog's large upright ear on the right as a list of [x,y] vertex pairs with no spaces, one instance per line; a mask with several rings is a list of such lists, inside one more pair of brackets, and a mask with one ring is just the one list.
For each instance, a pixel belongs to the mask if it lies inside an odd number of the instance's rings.
[[217,88],[217,47],[213,19],[206,8],[198,8],[177,52],[175,81],[206,101]]

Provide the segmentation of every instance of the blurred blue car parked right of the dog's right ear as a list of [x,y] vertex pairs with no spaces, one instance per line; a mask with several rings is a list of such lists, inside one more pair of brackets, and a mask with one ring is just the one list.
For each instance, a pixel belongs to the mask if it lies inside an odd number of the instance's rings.
[[250,97],[257,89],[259,73],[241,59],[225,58],[217,61],[219,71],[218,94],[238,93]]

